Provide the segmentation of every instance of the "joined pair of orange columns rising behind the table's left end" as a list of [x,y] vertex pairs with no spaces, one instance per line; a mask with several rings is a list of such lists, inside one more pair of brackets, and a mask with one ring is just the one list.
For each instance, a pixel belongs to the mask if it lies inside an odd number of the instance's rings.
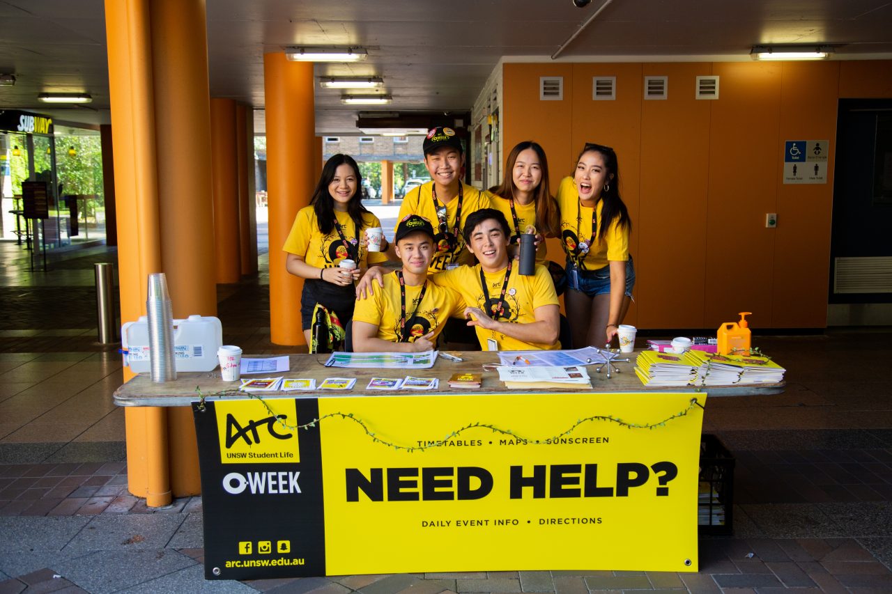
[[[215,315],[203,0],[107,0],[121,320],[167,276],[174,318]],[[209,272],[210,270],[210,272]],[[131,374],[129,370],[126,377]],[[201,491],[188,408],[128,408],[128,488],[152,507]]]

